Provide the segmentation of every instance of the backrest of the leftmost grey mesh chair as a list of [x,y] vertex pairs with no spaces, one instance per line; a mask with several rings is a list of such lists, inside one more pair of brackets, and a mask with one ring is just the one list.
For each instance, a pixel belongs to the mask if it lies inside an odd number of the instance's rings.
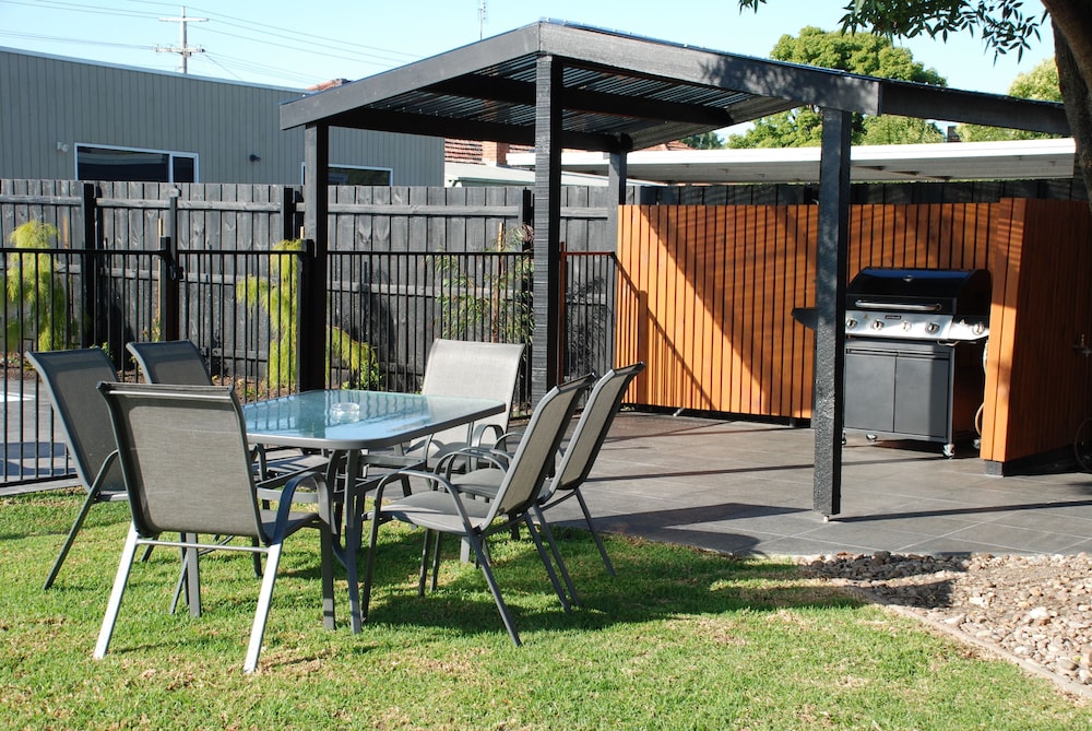
[[[91,490],[106,458],[117,448],[109,413],[95,387],[100,381],[118,380],[118,372],[98,347],[27,353],[26,358],[46,387],[80,482],[84,490]],[[107,492],[124,490],[117,462],[104,475],[100,487]]]

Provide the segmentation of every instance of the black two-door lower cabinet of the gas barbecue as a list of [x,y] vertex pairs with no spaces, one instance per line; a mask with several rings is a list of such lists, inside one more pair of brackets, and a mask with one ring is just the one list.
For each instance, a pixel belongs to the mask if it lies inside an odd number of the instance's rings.
[[940,443],[951,457],[957,440],[976,435],[984,342],[846,339],[845,429]]

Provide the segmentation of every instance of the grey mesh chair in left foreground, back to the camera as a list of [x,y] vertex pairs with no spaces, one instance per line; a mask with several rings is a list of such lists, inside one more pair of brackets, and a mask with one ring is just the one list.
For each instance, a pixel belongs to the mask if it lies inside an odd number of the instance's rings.
[[[185,553],[190,612],[200,615],[199,551],[262,553],[266,568],[250,632],[244,670],[253,672],[261,652],[273,587],[285,539],[317,528],[321,541],[323,623],[334,626],[333,550],[328,516],[292,509],[293,493],[319,472],[286,476],[278,485],[275,511],[259,504],[239,402],[228,387],[100,384],[109,409],[118,461],[129,492],[132,524],[95,645],[95,658],[109,648],[133,559],[141,545],[168,545]],[[320,503],[320,505],[323,503]],[[199,543],[200,533],[252,539],[247,545]],[[178,534],[170,540],[164,534]]]

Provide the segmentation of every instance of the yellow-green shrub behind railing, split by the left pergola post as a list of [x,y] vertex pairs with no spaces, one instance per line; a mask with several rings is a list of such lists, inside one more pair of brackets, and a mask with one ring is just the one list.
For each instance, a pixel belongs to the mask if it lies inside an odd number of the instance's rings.
[[[296,256],[304,243],[286,239],[273,246],[282,256],[270,258],[270,278],[248,276],[236,285],[236,296],[250,307],[261,307],[270,320],[270,361],[266,380],[270,388],[290,388],[296,382],[296,352],[299,347],[299,274]],[[290,252],[290,254],[289,254]],[[349,333],[327,326],[330,346],[337,359],[353,372],[354,378],[344,386],[367,387],[379,378],[376,354],[367,343],[354,340]]]

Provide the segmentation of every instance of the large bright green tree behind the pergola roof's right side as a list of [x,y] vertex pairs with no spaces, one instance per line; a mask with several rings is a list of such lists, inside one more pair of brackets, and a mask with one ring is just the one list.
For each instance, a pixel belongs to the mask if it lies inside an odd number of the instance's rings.
[[[808,26],[798,36],[784,35],[770,52],[779,61],[805,63],[852,73],[946,85],[943,76],[914,61],[905,48],[895,48],[888,38],[867,33],[828,33]],[[763,117],[744,134],[728,138],[731,148],[817,146],[822,138],[822,115],[811,107],[798,107]],[[900,144],[940,142],[936,125],[909,117],[853,117],[854,144]]]

